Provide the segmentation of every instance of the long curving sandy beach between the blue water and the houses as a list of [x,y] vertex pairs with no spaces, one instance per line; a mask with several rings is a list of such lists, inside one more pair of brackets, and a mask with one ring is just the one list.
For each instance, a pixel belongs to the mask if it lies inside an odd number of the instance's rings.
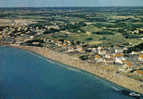
[[[49,48],[41,48],[41,47],[33,47],[33,46],[14,46],[14,45],[11,45],[11,47],[20,48],[23,50],[40,54],[41,56],[44,56],[50,60],[54,60],[59,63],[68,65],[70,67],[87,71],[101,78],[104,78],[105,80],[111,81],[121,87],[143,94],[143,88],[140,87],[143,84],[143,82],[131,79],[121,74],[117,74],[111,71],[109,68],[105,68],[105,66],[103,65],[90,64],[85,61],[81,61],[76,57],[69,56],[63,53],[58,53]],[[110,66],[110,67],[112,68],[113,66]]]

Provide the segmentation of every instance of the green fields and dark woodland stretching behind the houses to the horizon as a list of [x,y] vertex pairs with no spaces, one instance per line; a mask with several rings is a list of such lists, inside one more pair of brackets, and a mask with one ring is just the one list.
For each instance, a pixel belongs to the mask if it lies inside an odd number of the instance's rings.
[[53,33],[50,37],[46,34],[44,37],[82,41],[91,46],[134,46],[143,42],[142,32],[130,33],[143,28],[142,9],[5,8],[0,9],[0,24],[6,26],[14,20],[20,24],[57,24],[60,32]]

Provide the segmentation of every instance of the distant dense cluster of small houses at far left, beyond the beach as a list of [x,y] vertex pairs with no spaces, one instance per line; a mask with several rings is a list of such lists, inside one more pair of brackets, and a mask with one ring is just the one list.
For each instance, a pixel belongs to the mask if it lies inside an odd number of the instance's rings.
[[10,43],[23,43],[31,40],[34,36],[41,35],[50,29],[59,29],[57,25],[10,25],[0,31],[0,40]]

